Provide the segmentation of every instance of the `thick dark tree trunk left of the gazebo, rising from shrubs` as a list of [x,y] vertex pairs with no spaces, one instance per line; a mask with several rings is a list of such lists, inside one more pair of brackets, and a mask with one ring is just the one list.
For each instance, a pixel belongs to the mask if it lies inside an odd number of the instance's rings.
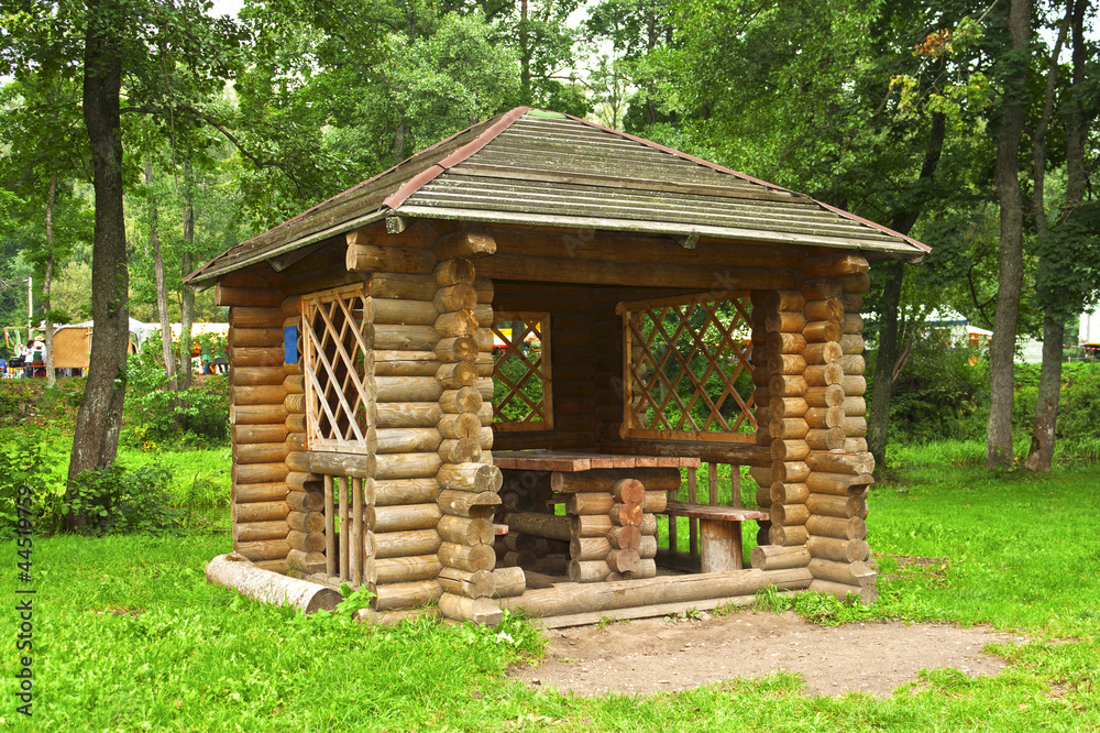
[[[92,243],[90,366],[76,416],[68,478],[114,462],[125,400],[127,348],[130,343],[125,219],[122,208],[122,125],[119,98],[122,52],[108,15],[90,3],[85,31],[84,120],[90,142],[96,192]],[[87,513],[74,512],[69,529],[87,525]]]

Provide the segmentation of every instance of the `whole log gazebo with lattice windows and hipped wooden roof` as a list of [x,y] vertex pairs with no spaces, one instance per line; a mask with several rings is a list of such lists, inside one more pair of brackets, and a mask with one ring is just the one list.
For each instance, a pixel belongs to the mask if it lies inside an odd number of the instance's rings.
[[230,309],[237,557],[490,623],[870,602],[860,294],[927,251],[578,118],[475,124],[187,278]]

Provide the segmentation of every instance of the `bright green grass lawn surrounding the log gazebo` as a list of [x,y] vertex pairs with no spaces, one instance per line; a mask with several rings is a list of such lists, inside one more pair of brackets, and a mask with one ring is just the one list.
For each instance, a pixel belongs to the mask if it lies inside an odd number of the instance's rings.
[[[204,472],[222,481],[228,464],[205,452],[158,460],[182,488]],[[515,620],[497,630],[305,620],[206,583],[204,564],[231,547],[223,532],[54,537],[34,545],[34,716],[15,712],[9,646],[0,729],[1100,730],[1100,468],[997,477],[934,464],[897,475],[870,499],[868,540],[883,573],[873,613],[1034,638],[998,649],[1012,664],[997,677],[928,672],[888,700],[806,698],[784,674],[648,698],[534,692],[503,676],[538,650]],[[14,540],[3,543],[13,566]],[[897,556],[942,559],[917,567]],[[14,571],[0,582],[11,609]],[[13,638],[15,612],[6,617]]]

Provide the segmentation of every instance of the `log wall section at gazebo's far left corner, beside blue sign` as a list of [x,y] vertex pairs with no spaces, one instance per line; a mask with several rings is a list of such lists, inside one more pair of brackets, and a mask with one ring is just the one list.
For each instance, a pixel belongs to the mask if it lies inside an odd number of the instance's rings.
[[233,549],[273,570],[287,568],[292,549],[279,280],[255,265],[227,275],[217,292],[230,308]]

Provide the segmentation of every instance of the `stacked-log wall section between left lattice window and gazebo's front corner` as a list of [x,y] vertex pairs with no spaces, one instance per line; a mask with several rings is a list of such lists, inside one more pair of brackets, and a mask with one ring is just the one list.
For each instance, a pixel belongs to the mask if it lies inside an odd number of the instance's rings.
[[346,264],[358,247],[375,248],[373,266],[363,259],[355,263],[374,271],[367,277],[367,309],[374,337],[375,461],[364,507],[364,566],[373,608],[391,611],[438,600],[442,592],[435,480],[443,440],[437,427],[442,387],[436,378],[435,255],[427,249],[396,251],[407,245],[361,245],[358,238],[359,232],[348,234]]

